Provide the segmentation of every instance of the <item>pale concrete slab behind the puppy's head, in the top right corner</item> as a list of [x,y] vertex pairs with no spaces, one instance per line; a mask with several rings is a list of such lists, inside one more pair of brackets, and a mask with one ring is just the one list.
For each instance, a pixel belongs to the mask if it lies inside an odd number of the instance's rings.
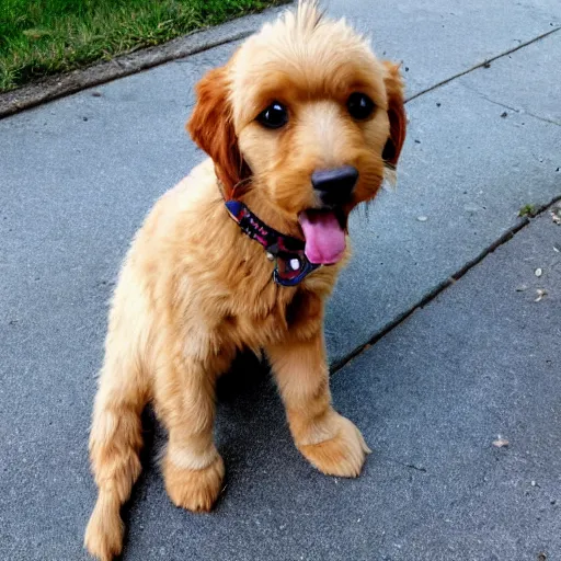
[[403,60],[410,96],[561,25],[557,0],[329,0],[328,7],[371,36],[380,56]]

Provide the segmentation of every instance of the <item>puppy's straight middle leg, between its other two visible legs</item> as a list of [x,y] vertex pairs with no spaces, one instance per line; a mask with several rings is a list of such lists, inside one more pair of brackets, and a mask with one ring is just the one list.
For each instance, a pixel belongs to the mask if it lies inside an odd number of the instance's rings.
[[157,408],[169,433],[162,470],[173,504],[190,511],[209,511],[221,489],[225,468],[215,447],[215,383],[230,357],[170,360],[159,376]]

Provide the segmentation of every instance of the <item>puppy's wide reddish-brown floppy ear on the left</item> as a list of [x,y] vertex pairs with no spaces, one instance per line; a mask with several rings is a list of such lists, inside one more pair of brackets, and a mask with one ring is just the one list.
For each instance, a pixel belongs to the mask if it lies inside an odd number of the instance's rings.
[[215,68],[196,87],[197,102],[187,123],[193,140],[215,162],[216,175],[230,198],[249,173],[233,130],[226,68]]

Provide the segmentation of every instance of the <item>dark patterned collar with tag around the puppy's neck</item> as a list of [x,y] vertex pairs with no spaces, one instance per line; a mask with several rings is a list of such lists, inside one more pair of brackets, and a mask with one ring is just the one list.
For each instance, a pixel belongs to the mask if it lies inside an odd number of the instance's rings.
[[259,242],[276,261],[273,278],[280,286],[296,286],[320,265],[310,263],[302,240],[285,236],[257,218],[243,203],[227,201],[226,208],[242,232]]

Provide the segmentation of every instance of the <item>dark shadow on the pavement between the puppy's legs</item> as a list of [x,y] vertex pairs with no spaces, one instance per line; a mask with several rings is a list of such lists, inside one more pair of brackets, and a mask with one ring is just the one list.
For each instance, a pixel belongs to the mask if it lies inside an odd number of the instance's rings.
[[[284,410],[268,365],[251,353],[241,354],[217,385],[215,438],[227,465],[226,484],[249,469],[248,461],[255,454],[267,454],[263,443],[266,447],[270,442],[267,433],[272,433],[274,427],[278,428],[277,421],[284,423]],[[286,431],[288,433],[288,428]],[[260,443],[256,442],[256,434],[260,435]],[[130,518],[141,510],[148,494],[153,496],[154,491],[163,492],[159,463],[167,438],[167,431],[152,408],[148,407],[142,413],[142,472],[133,489],[130,501],[122,511],[126,528],[130,527]],[[125,536],[125,548],[127,541]]]

